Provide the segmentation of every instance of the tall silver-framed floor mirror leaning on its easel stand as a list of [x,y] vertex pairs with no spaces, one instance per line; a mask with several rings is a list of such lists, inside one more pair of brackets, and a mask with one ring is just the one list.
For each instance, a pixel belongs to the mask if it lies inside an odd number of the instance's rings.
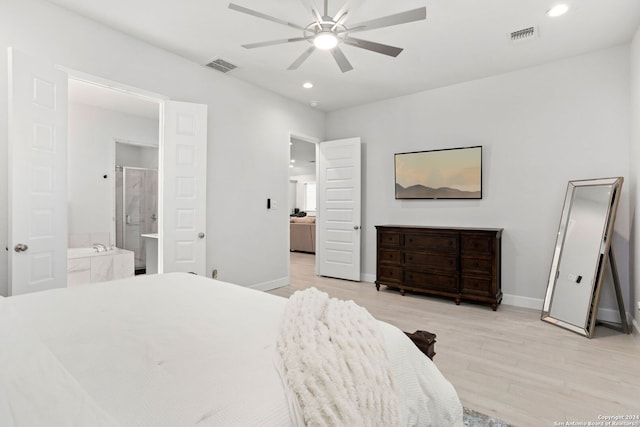
[[606,277],[614,286],[620,324],[598,324],[629,332],[611,247],[622,182],[622,177],[570,181],[560,218],[542,320],[588,338]]

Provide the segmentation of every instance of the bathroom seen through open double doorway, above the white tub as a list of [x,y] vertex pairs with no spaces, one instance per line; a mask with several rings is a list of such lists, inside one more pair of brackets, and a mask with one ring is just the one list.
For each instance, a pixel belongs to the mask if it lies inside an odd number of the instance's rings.
[[69,247],[124,250],[112,268],[144,273],[140,234],[158,231],[159,103],[74,78],[68,87]]

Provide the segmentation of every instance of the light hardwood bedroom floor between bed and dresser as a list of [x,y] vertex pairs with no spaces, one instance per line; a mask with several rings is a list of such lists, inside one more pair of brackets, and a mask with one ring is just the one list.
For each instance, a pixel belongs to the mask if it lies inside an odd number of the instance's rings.
[[[315,286],[366,307],[379,320],[437,334],[434,361],[462,404],[514,426],[598,422],[599,416],[640,416],[637,337],[598,327],[587,339],[540,320],[538,310],[429,298],[375,285],[315,276],[315,257],[291,253],[290,296]],[[636,420],[640,427],[640,420]]]

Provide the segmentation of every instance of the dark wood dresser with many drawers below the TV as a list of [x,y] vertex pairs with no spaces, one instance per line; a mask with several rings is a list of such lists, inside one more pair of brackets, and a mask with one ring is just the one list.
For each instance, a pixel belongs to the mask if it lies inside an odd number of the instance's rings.
[[376,289],[491,304],[502,301],[501,228],[377,225]]

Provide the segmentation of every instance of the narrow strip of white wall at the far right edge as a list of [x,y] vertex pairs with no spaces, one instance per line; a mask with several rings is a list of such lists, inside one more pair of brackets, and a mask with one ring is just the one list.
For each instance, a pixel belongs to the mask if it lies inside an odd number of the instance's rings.
[[640,28],[631,43],[631,301],[630,311],[635,318],[634,325],[640,333],[640,190],[638,188],[638,169],[640,168]]

